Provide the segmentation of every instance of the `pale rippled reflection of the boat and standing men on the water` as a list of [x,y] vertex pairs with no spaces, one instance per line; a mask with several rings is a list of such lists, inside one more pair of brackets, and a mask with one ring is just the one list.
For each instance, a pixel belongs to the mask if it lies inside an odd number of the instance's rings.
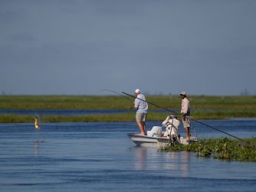
[[169,170],[189,177],[189,152],[160,152],[149,148],[135,148],[136,170]]

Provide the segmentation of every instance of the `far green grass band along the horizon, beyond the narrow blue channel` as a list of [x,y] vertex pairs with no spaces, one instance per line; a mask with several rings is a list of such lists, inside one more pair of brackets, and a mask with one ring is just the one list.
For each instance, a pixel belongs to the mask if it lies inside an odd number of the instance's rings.
[[[179,96],[146,96],[151,103],[180,110]],[[194,112],[252,112],[256,96],[189,96]],[[0,96],[0,109],[133,109],[123,96]],[[158,109],[150,106],[149,109]],[[218,114],[218,113],[216,113]],[[223,115],[223,113],[221,114]]]

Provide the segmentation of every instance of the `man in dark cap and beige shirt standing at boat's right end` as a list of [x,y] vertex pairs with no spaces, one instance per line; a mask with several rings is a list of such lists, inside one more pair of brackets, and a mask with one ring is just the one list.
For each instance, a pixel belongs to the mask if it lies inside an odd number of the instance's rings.
[[180,93],[180,97],[182,98],[182,122],[183,126],[185,128],[185,139],[190,138],[190,121],[189,118],[186,118],[186,116],[189,116],[190,114],[190,106],[189,106],[189,99],[187,99],[186,93],[183,91]]

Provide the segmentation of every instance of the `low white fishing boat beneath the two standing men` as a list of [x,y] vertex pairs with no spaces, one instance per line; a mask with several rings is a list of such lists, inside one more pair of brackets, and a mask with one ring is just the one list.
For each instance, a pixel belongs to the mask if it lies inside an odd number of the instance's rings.
[[[166,127],[166,131],[162,131],[162,127],[153,126],[153,128],[147,132],[147,135],[139,135],[134,133],[128,133],[128,137],[137,147],[146,148],[160,148],[162,145],[189,145],[189,143],[198,142],[195,136],[191,136],[189,140],[182,138],[179,135],[179,120],[176,116],[168,116],[162,126]],[[193,129],[195,132],[195,129]]]

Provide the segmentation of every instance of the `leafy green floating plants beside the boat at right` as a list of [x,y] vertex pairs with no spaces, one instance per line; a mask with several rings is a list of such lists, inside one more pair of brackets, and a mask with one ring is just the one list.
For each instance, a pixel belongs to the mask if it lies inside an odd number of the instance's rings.
[[246,138],[244,142],[231,138],[203,138],[198,143],[163,146],[159,150],[191,151],[195,152],[197,157],[227,161],[256,161],[256,138]]

